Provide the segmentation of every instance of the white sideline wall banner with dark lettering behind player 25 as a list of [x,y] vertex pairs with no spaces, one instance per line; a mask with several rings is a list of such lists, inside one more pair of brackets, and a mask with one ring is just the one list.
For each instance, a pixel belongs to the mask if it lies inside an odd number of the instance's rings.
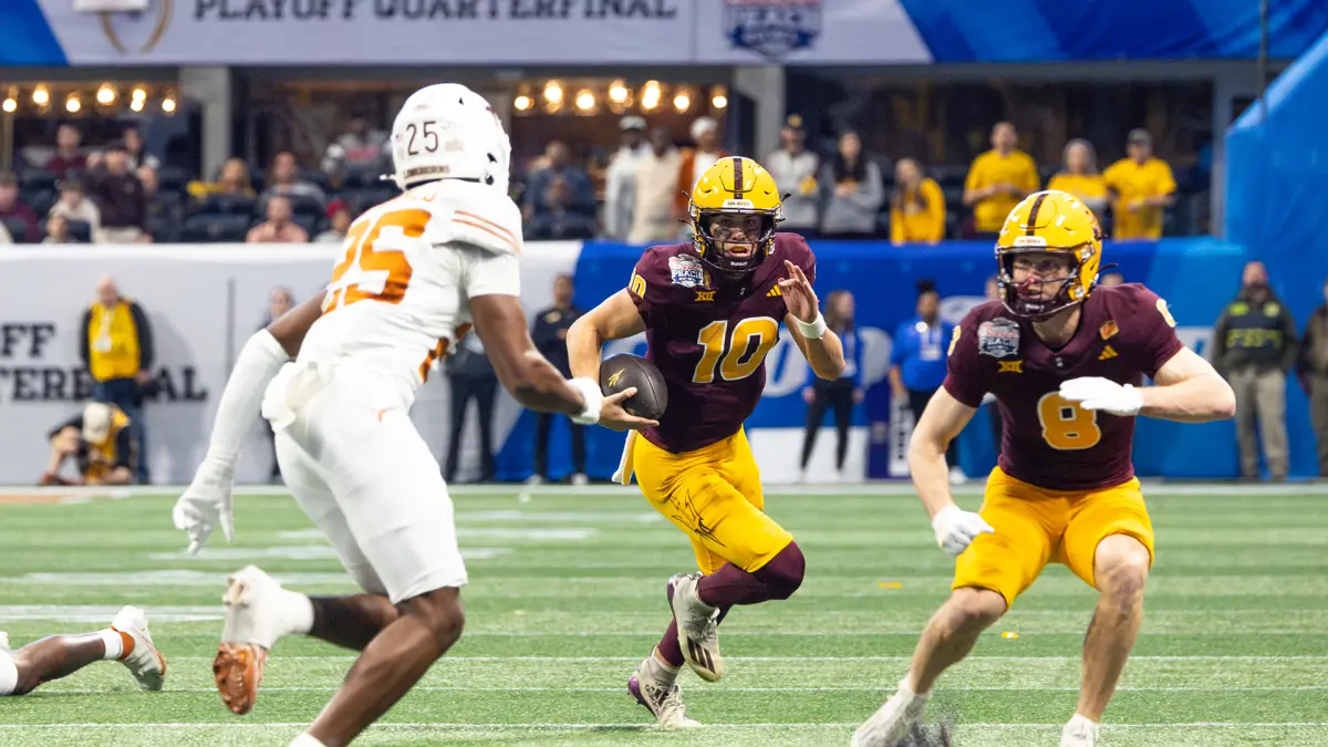
[[[527,311],[552,299],[552,278],[572,268],[579,242],[527,245],[522,300]],[[0,484],[35,484],[46,465],[46,433],[77,415],[92,391],[80,356],[82,314],[98,278],[147,314],[157,347],[147,400],[147,456],[157,482],[189,482],[207,451],[216,401],[239,348],[258,331],[274,287],[296,300],[317,292],[340,254],[336,245],[41,246],[0,253]],[[499,399],[494,424],[501,444],[518,416]],[[412,416],[434,455],[449,428],[446,376],[436,371]],[[473,432],[474,423],[467,423]],[[255,413],[238,480],[263,482],[272,463],[266,423]],[[463,437],[462,468],[477,463],[474,437]]]

